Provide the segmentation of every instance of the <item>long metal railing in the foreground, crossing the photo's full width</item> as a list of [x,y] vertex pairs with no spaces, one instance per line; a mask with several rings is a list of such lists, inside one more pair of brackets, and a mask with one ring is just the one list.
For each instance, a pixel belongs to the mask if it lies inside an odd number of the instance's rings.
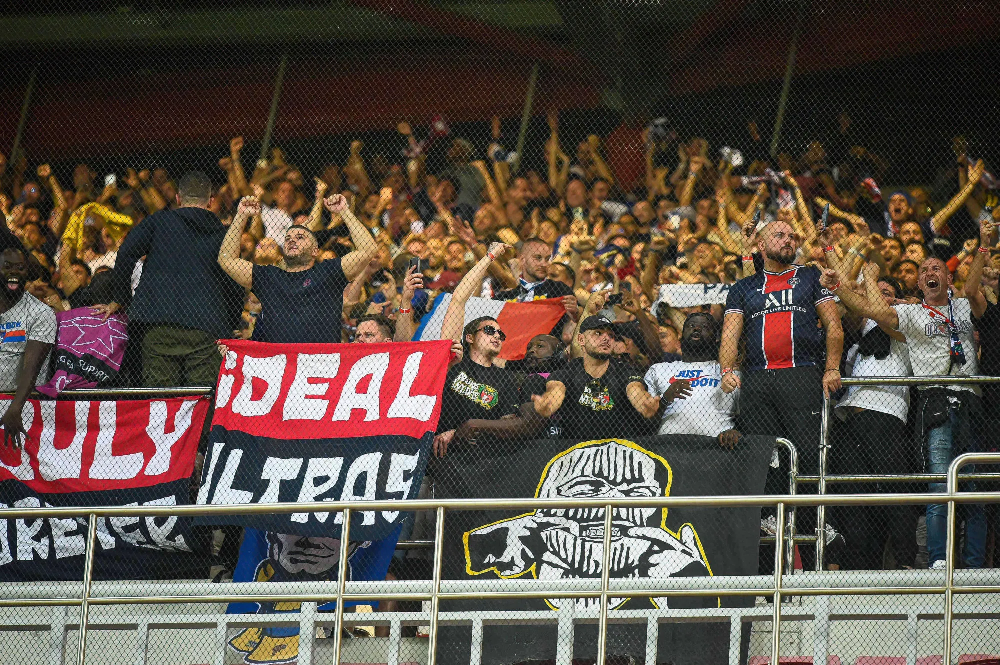
[[[98,604],[132,604],[132,603],[216,603],[216,602],[237,602],[237,601],[258,601],[258,602],[316,602],[316,601],[337,601],[335,616],[335,662],[340,662],[341,634],[344,625],[343,601],[365,600],[379,598],[386,600],[430,600],[430,644],[428,652],[428,663],[434,665],[437,658],[437,635],[438,616],[440,613],[441,600],[452,599],[484,599],[484,598],[580,598],[599,597],[600,615],[598,617],[598,654],[599,665],[605,663],[604,650],[607,644],[608,607],[607,599],[610,593],[615,596],[705,596],[705,595],[773,595],[774,608],[771,627],[771,662],[777,663],[779,656],[780,636],[781,636],[781,611],[782,597],[786,591],[797,596],[806,595],[854,595],[854,594],[928,594],[943,593],[945,595],[945,633],[944,633],[944,663],[951,662],[951,640],[953,621],[953,601],[955,593],[998,593],[1000,584],[955,584],[955,561],[954,561],[954,538],[955,538],[955,513],[958,503],[978,503],[978,502],[1000,502],[1000,493],[997,492],[965,492],[960,493],[958,489],[958,470],[967,463],[991,462],[1000,463],[1000,453],[967,453],[957,457],[949,467],[948,482],[946,491],[925,492],[925,493],[903,493],[903,494],[789,494],[789,495],[743,495],[743,496],[660,496],[660,497],[628,497],[628,498],[490,498],[490,499],[414,499],[414,500],[389,500],[389,501],[311,501],[311,502],[285,502],[285,503],[249,503],[231,505],[175,505],[175,506],[90,506],[90,507],[39,507],[39,508],[0,508],[0,519],[16,518],[44,518],[62,517],[78,518],[86,517],[88,520],[87,541],[85,549],[85,565],[83,574],[83,586],[80,597],[30,597],[30,598],[0,598],[0,605],[6,606],[37,606],[37,605],[79,605],[81,608],[80,635],[78,664],[84,665],[86,659],[87,646],[87,621],[91,605]],[[857,585],[857,586],[823,586],[819,584],[820,578],[813,586],[801,586],[795,584],[791,587],[784,585],[784,559],[786,548],[782,546],[785,539],[786,510],[788,506],[796,505],[822,505],[831,503],[835,505],[870,505],[881,503],[898,504],[925,504],[930,502],[940,503],[946,500],[948,504],[948,550],[946,554],[946,574],[944,584],[913,584],[913,585]],[[777,534],[775,537],[775,567],[773,581],[769,586],[758,585],[753,582],[754,576],[734,578],[733,581],[740,581],[740,584],[732,586],[726,584],[725,578],[715,578],[713,584],[705,584],[697,588],[692,584],[694,578],[671,578],[669,586],[664,585],[668,580],[636,580],[632,578],[623,579],[612,585],[610,580],[610,564],[608,557],[611,552],[612,516],[615,507],[672,507],[672,506],[748,506],[748,505],[776,505],[777,506]],[[572,580],[576,584],[560,583],[548,588],[541,588],[539,580],[527,580],[534,582],[537,588],[524,588],[526,580],[497,580],[494,584],[501,587],[499,591],[484,592],[478,589],[468,591],[443,591],[442,590],[442,563],[444,552],[444,525],[448,510],[525,510],[537,508],[604,508],[605,529],[604,529],[604,561],[601,570],[600,585],[588,584],[591,580]],[[365,582],[363,592],[348,592],[346,581],[346,566],[348,559],[349,533],[351,527],[352,512],[356,510],[427,510],[434,509],[437,512],[437,525],[434,541],[433,558],[433,578],[430,589],[416,589],[410,591],[391,591],[397,588],[398,582]],[[102,516],[194,516],[194,515],[233,515],[233,514],[263,514],[263,513],[288,513],[288,512],[343,512],[343,537],[341,538],[341,551],[339,561],[339,577],[336,582],[334,593],[261,593],[236,592],[236,593],[211,593],[211,594],[164,594],[164,595],[93,595],[93,565],[97,544],[97,519]],[[817,573],[819,574],[819,573]],[[685,581],[687,580],[687,581]],[[596,578],[595,580],[596,581]],[[520,582],[520,584],[518,584]],[[462,580],[467,584],[466,580]],[[582,584],[581,584],[582,583]],[[704,581],[701,582],[704,584]],[[268,583],[263,583],[268,584]],[[285,584],[285,583],[279,583]],[[622,588],[632,585],[633,588]],[[474,585],[470,585],[474,586]],[[503,590],[506,587],[509,590]],[[520,587],[520,588],[519,588]],[[242,588],[242,585],[240,586]],[[386,589],[385,592],[380,589]]]

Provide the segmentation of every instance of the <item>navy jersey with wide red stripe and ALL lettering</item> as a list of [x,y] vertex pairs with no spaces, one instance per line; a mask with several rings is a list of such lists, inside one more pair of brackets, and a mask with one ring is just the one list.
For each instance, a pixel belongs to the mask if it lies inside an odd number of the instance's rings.
[[819,278],[815,268],[795,266],[784,273],[761,271],[733,285],[726,314],[743,315],[744,369],[783,369],[825,361],[816,306],[834,296],[820,285]]

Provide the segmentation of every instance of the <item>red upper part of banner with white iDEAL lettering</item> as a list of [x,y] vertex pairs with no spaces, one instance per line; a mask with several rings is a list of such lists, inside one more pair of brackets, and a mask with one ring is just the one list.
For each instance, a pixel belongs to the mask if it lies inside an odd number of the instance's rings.
[[283,439],[437,428],[450,341],[226,344],[213,427]]

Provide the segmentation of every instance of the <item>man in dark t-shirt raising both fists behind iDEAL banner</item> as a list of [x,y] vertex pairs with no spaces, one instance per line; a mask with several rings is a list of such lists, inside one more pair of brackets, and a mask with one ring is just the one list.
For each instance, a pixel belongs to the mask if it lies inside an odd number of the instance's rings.
[[240,258],[243,230],[247,221],[260,212],[256,197],[240,201],[236,218],[219,248],[218,260],[222,270],[240,286],[252,289],[260,300],[261,313],[253,339],[286,343],[341,341],[344,289],[375,256],[376,243],[342,195],[335,194],[323,204],[331,215],[343,218],[354,251],[341,259],[317,263],[316,237],[306,227],[292,225],[285,232],[282,270],[277,266],[256,266]]

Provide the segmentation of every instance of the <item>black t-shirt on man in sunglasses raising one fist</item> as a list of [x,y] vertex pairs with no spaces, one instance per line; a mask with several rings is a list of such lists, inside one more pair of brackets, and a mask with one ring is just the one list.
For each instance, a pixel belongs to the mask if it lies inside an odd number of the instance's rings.
[[472,418],[496,420],[517,413],[519,405],[514,372],[484,367],[467,357],[448,370],[438,431],[455,429]]

